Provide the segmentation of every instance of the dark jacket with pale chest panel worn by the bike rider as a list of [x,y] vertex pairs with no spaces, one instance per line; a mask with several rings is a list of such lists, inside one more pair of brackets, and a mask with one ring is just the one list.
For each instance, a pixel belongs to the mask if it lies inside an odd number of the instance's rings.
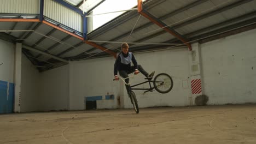
[[138,63],[132,52],[128,52],[127,54],[120,52],[115,60],[114,75],[117,75],[120,70],[129,71],[131,69],[131,62],[133,63],[134,68],[138,69]]

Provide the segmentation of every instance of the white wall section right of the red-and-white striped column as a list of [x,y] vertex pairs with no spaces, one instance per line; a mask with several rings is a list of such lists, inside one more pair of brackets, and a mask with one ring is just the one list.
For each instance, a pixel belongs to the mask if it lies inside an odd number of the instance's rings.
[[201,45],[208,104],[256,103],[256,29]]

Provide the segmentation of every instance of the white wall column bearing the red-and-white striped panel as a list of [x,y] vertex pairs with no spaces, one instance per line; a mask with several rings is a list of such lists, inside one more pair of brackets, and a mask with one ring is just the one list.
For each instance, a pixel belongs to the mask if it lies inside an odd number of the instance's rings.
[[[200,44],[195,43],[189,51],[189,82],[190,82],[190,105],[196,105],[199,95],[202,95],[202,71],[201,71],[201,51]],[[196,99],[197,98],[197,99]]]

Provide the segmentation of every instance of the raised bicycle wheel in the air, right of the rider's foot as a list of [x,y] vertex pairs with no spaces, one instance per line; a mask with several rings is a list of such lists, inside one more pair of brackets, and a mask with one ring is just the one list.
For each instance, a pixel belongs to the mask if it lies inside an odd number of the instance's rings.
[[158,74],[154,78],[153,85],[159,93],[168,93],[173,87],[172,77],[165,73]]

